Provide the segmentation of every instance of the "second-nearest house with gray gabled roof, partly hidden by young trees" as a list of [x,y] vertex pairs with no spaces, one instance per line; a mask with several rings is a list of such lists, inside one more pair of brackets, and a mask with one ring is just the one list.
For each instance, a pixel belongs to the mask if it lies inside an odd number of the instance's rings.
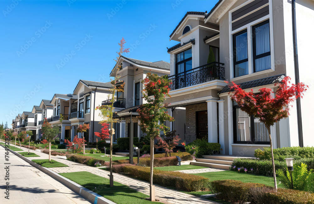
[[[121,66],[120,69],[118,69],[118,64]],[[120,83],[117,85],[125,83],[124,92],[116,93],[117,103],[114,104],[114,111],[117,113],[116,117],[122,122],[114,124],[115,134],[113,142],[116,142],[117,138],[120,137],[134,136],[140,138],[143,136],[136,119],[136,116],[138,116],[136,110],[139,105],[145,103],[142,98],[143,84],[141,80],[146,77],[148,72],[160,76],[169,75],[170,64],[164,61],[147,62],[121,56],[112,69],[111,77],[115,77],[116,74],[120,76]]]

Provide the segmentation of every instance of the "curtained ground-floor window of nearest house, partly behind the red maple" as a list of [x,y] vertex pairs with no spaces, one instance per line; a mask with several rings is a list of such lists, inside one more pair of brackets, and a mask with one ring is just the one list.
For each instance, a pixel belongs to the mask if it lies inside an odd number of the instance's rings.
[[234,143],[269,144],[268,131],[258,118],[242,111],[233,102]]

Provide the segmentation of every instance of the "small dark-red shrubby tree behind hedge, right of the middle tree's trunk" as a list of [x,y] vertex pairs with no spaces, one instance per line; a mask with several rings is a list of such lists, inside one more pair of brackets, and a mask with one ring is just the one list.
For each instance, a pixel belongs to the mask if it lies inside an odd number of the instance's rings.
[[155,148],[163,148],[165,150],[165,157],[168,157],[168,153],[171,157],[171,152],[173,148],[178,145],[178,141],[181,140],[178,135],[176,135],[176,130],[166,132],[165,135],[160,135],[157,139],[157,145]]

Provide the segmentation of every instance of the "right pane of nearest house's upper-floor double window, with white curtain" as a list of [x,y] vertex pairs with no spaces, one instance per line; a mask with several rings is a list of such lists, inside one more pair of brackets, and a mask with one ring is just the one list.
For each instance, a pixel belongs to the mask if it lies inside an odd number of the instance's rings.
[[252,27],[254,72],[271,69],[269,20]]

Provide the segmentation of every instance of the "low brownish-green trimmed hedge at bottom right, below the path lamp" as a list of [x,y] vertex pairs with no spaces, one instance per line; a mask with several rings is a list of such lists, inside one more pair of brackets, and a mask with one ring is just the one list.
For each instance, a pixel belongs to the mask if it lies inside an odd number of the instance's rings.
[[211,190],[218,199],[231,203],[251,202],[255,204],[314,204],[314,194],[256,183],[243,183],[238,180],[217,180],[210,183]]

